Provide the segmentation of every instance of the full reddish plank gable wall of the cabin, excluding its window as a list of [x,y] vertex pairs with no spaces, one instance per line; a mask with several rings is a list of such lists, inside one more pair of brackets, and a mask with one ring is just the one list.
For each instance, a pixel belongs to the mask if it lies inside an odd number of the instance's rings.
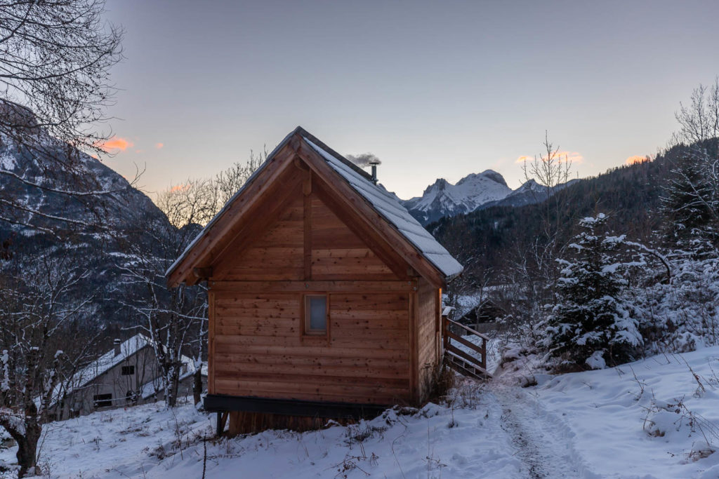
[[[210,392],[412,401],[410,302],[417,283],[397,276],[314,190],[305,185],[288,198],[257,241],[225,256],[223,274],[211,278]],[[305,294],[327,295],[326,336],[305,334]]]

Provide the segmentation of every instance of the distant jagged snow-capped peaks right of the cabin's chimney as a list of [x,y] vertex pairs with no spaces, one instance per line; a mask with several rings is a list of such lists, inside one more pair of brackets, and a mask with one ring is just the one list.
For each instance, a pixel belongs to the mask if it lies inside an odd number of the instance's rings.
[[403,200],[403,205],[420,223],[427,225],[444,216],[470,213],[485,203],[502,200],[511,192],[502,175],[487,169],[467,175],[455,185],[440,178],[429,185],[422,196]]

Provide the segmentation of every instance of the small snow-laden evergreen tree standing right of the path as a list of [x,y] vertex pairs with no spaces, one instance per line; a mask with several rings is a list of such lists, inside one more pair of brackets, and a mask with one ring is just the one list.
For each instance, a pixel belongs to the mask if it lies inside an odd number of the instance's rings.
[[582,233],[569,244],[573,254],[558,259],[559,298],[542,323],[541,345],[563,368],[603,368],[636,355],[643,338],[628,300],[627,274],[641,261],[626,261],[626,237],[605,231],[607,216],[583,218]]

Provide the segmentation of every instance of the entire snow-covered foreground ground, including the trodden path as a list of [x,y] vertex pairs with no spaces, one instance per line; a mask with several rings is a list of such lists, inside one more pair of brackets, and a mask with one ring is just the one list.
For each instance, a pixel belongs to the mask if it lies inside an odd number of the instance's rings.
[[[719,348],[601,371],[462,381],[446,404],[349,427],[209,439],[191,404],[47,427],[52,478],[718,478]],[[14,462],[14,448],[0,460]]]

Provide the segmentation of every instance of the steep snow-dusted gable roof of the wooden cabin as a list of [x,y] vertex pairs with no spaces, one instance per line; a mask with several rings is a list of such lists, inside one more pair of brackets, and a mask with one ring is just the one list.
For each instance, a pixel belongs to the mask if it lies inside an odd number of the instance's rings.
[[345,181],[362,196],[367,203],[372,207],[377,214],[379,214],[384,220],[392,225],[403,238],[406,239],[416,250],[429,261],[437,271],[439,271],[445,280],[450,280],[455,276],[462,273],[464,267],[459,264],[459,261],[449,254],[449,251],[441,246],[436,239],[426,231],[426,229],[408,212],[408,210],[400,203],[399,198],[393,193],[388,192],[382,185],[375,185],[372,182],[372,177],[365,172],[365,170],[357,167],[356,164],[350,162],[344,158],[341,154],[335,152],[333,149],[328,147],[322,141],[317,139],[298,126],[296,129],[290,132],[285,139],[278,144],[273,151],[267,155],[267,160],[260,165],[259,168],[249,177],[247,182],[242,188],[237,191],[232,198],[224,205],[219,213],[217,213],[212,220],[207,223],[205,228],[196,236],[196,238],[188,245],[183,251],[183,254],[168,268],[165,272],[165,276],[170,276],[177,266],[183,262],[188,256],[190,251],[201,241],[213,227],[219,218],[221,218],[226,210],[229,209],[230,205],[234,200],[242,194],[242,192],[255,180],[257,176],[262,173],[266,165],[271,159],[280,152],[285,144],[290,141],[293,136],[301,136],[301,139],[308,144],[322,159],[324,159],[334,171],[339,174]]

